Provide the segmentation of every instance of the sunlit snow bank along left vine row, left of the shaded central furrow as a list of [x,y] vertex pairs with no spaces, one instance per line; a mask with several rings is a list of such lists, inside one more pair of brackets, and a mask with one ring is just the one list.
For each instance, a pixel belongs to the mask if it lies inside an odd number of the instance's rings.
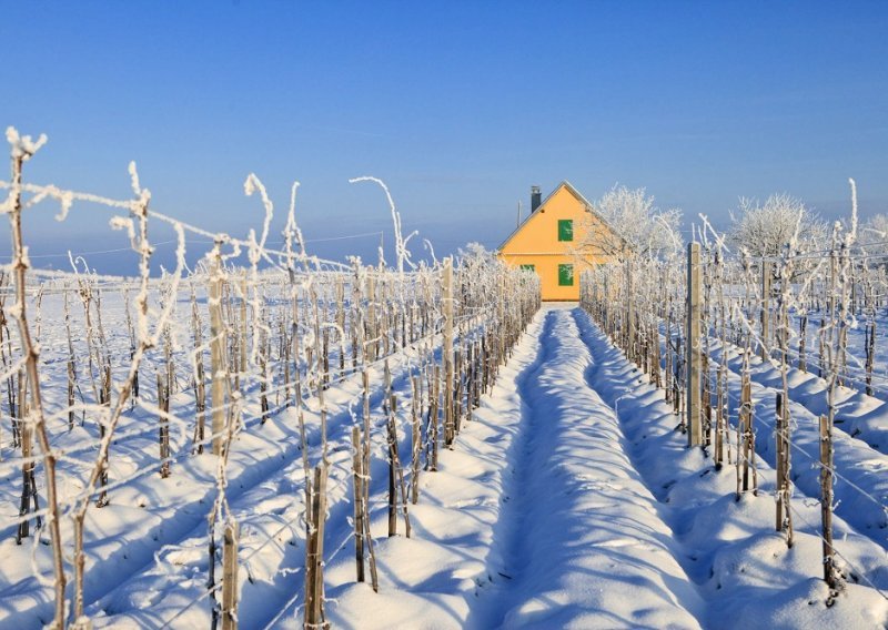
[[[491,573],[485,559],[508,474],[509,460],[503,454],[521,425],[516,382],[537,358],[541,327],[537,314],[500,370],[493,392],[482,397],[472,421],[463,424],[453,449],[441,450],[438,469],[421,472],[420,501],[410,506],[412,538],[389,538],[385,508],[375,510],[380,591],[355,583],[351,545],[327,559],[327,616],[333,627],[464,628],[480,593],[507,579]],[[377,502],[382,497],[379,488]],[[301,628],[301,617],[286,611],[275,627]]]

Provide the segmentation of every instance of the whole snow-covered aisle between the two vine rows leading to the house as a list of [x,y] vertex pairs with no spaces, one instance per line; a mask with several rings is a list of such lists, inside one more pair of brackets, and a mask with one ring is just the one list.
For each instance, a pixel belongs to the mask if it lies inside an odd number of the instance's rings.
[[848,583],[828,604],[819,506],[796,497],[787,549],[768,464],[735,500],[734,467],[687,449],[643,380],[582,311],[541,312],[445,475],[426,476],[425,534],[381,540],[381,593],[333,562],[334,626],[885,627],[885,549],[837,518]]

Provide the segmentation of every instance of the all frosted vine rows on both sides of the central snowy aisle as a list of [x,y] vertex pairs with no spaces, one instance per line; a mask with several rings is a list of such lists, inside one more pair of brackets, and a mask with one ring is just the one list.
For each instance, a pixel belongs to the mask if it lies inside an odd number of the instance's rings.
[[[179,500],[190,501],[195,525],[205,526],[205,586],[159,626],[201,609],[211,627],[236,627],[239,570],[249,571],[287,531],[301,530],[303,561],[278,570],[299,576],[302,586],[279,617],[302,598],[295,609],[304,626],[327,626],[325,558],[350,545],[355,581],[379,590],[371,508],[384,505],[387,536],[416,535],[411,511],[422,500],[420,479],[437,470],[442,448],[458,448],[456,436],[539,308],[536,276],[472,255],[414,263],[406,247],[412,235],[401,234],[391,194],[374,177],[354,182],[376,183],[386,194],[397,271],[311,256],[295,220],[297,183],[284,247],[273,250],[274,206],[255,175],[245,192],[259,195],[262,225],[235,238],[151,209],[134,164],[131,200],[27,183],[24,165],[46,140],[14,130],[7,138],[12,177],[0,182],[8,191],[0,212],[10,217],[12,262],[0,270],[0,470],[17,486],[0,496],[10,514],[0,531],[32,543],[34,614],[57,628],[87,627],[102,595],[90,579],[110,562],[90,555],[98,515],[132,501],[138,484],[172,485],[200,469],[210,488]],[[82,260],[71,260],[68,274],[31,270],[22,221],[49,201],[58,203],[60,220],[81,203],[124,213],[111,225],[127,234],[139,274],[101,276]],[[157,223],[175,232],[176,265],[152,275],[149,227]],[[817,467],[805,492],[810,497],[816,486],[823,577],[835,597],[849,570],[867,578],[833,539],[834,510],[888,525],[886,497],[861,487],[835,450],[847,390],[888,394],[876,341],[888,307],[888,261],[856,242],[856,202],[850,224],[837,224],[830,247],[817,252],[790,242],[779,256],[735,254],[704,224],[686,260],[629,256],[585,273],[581,304],[664,389],[688,445],[710,456],[716,470],[734,468],[738,500],[760,490],[757,457],[773,457],[774,526],[790,547],[794,519],[804,520],[794,507],[804,481],[799,461]],[[186,235],[210,245],[193,271]],[[860,327],[862,338],[851,347]],[[754,404],[756,366],[778,374],[773,414]],[[824,385],[810,427],[816,448],[799,440],[794,417],[799,373]],[[397,380],[406,387],[395,387]],[[761,434],[768,427],[771,439]],[[289,440],[281,455],[300,463],[301,477],[286,496],[295,518],[255,541],[244,534],[253,515],[232,500],[239,479],[232,468],[242,466],[232,457],[263,435]],[[347,453],[345,475],[341,453]],[[384,504],[373,504],[374,480]],[[836,484],[866,508],[837,507]],[[160,499],[137,499],[141,508],[157,507],[152,500]],[[333,500],[349,504],[347,512]],[[346,538],[329,539],[333,518],[351,521]]]

